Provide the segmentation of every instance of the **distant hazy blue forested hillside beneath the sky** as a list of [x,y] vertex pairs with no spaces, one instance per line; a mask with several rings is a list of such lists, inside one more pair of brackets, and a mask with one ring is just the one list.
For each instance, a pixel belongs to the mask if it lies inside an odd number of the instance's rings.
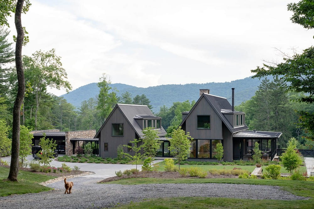
[[[271,78],[268,78],[271,79]],[[136,95],[145,94],[150,104],[153,106],[153,112],[159,112],[161,106],[171,107],[173,102],[184,102],[189,100],[198,100],[199,89],[210,89],[210,94],[220,97],[231,97],[231,88],[235,88],[235,105],[239,105],[241,102],[251,99],[257,91],[261,81],[258,79],[252,79],[247,77],[244,79],[224,82],[224,83],[191,83],[191,84],[170,84],[160,86],[150,86],[147,88],[140,88],[136,86],[130,86],[122,83],[111,84],[112,88],[118,90],[117,95],[121,96],[122,93],[128,91],[132,94],[132,97]],[[96,97],[99,93],[97,83],[90,83],[85,86],[81,86],[68,94],[64,94],[64,97],[69,103],[75,107],[80,107],[81,102],[88,100],[91,97]],[[231,99],[229,100],[231,103]]]

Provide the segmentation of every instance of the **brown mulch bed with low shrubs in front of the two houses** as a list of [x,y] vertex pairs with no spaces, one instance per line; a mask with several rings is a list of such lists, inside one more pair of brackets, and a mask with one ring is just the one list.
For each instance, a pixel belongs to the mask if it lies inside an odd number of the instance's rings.
[[[120,179],[130,179],[130,178],[164,178],[164,179],[198,179],[199,177],[182,177],[179,172],[165,172],[165,171],[151,171],[151,172],[138,172],[138,176],[136,177],[135,174],[132,175],[123,175],[121,177],[114,176],[109,177],[104,180],[101,180],[100,182],[109,182],[109,181],[116,181]],[[239,178],[237,175],[212,175],[208,174],[206,176],[206,179],[214,179],[214,178]]]

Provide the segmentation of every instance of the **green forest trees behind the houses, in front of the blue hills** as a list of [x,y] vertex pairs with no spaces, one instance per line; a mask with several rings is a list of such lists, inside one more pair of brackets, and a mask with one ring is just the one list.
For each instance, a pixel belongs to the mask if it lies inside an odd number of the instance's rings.
[[[0,128],[9,138],[12,136],[12,111],[17,91],[17,76],[14,67],[5,67],[14,60],[12,43],[7,41],[8,31],[0,30]],[[25,97],[21,108],[21,125],[31,130],[60,129],[60,131],[98,129],[109,116],[116,103],[148,105],[145,95],[132,95],[126,91],[117,96],[106,74],[100,77],[99,93],[81,102],[76,108],[63,97],[48,92],[50,88],[71,91],[67,73],[62,68],[61,57],[54,49],[38,50],[32,56],[23,56]],[[289,138],[298,140],[298,148],[313,148],[313,141],[306,140],[308,132],[300,126],[300,111],[314,112],[313,103],[298,102],[306,97],[303,92],[289,90],[286,81],[278,77],[264,78],[255,95],[236,106],[246,113],[245,123],[250,130],[278,131],[283,135],[279,145],[285,147]],[[221,96],[221,95],[217,95]],[[173,102],[163,105],[154,114],[162,117],[162,126],[170,134],[181,123],[181,112],[189,111],[195,101]]]

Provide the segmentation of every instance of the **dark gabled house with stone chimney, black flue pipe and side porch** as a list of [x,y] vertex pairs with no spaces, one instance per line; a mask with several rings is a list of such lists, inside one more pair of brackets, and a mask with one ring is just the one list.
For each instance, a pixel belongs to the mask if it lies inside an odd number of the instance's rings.
[[280,132],[247,130],[245,113],[234,110],[234,88],[232,105],[226,98],[200,89],[200,97],[192,109],[182,112],[180,126],[194,138],[188,157],[195,160],[216,160],[214,149],[219,142],[224,146],[225,161],[250,160],[255,142],[260,144],[263,159],[272,160],[276,140],[281,136]]

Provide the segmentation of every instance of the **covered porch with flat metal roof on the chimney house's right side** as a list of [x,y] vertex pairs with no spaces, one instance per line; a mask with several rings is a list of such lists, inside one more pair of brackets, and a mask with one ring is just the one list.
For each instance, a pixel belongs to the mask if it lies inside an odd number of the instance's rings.
[[233,135],[233,160],[252,160],[255,142],[262,150],[262,159],[273,160],[281,132],[240,131]]

